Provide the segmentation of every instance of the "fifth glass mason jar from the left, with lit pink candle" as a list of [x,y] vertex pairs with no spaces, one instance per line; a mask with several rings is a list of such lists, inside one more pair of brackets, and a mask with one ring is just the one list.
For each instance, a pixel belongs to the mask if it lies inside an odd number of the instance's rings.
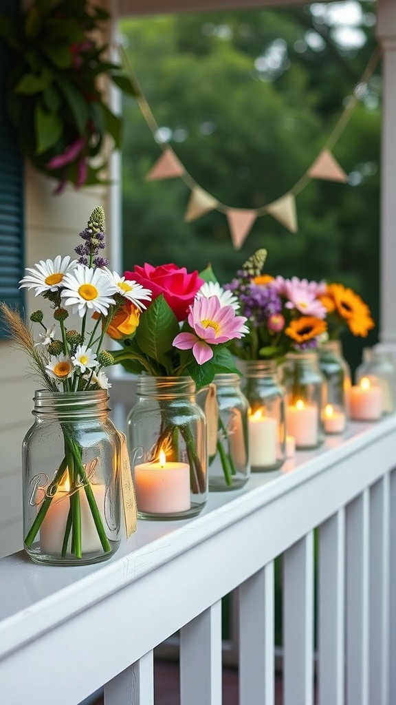
[[295,439],[296,448],[317,448],[324,439],[326,379],[316,351],[287,353],[279,372],[286,389],[287,434]]

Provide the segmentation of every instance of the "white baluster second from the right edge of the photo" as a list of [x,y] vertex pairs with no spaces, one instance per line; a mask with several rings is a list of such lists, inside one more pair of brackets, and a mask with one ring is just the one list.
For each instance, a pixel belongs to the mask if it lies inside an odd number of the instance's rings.
[[370,705],[388,705],[389,474],[370,492]]

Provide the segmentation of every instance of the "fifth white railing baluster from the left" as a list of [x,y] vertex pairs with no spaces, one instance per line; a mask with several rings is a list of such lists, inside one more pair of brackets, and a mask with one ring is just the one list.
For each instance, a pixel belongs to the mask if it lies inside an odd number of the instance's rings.
[[319,528],[318,701],[345,703],[345,510]]

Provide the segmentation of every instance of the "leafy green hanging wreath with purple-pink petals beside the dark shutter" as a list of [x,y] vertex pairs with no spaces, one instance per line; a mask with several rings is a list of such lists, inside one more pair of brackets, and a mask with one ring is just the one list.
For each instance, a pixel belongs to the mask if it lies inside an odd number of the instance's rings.
[[85,0],[36,0],[17,18],[0,16],[0,37],[13,53],[4,86],[8,118],[20,152],[58,179],[58,193],[67,183],[105,183],[104,138],[120,145],[122,121],[98,79],[136,94],[122,67],[104,58],[108,45],[95,41],[109,17]]

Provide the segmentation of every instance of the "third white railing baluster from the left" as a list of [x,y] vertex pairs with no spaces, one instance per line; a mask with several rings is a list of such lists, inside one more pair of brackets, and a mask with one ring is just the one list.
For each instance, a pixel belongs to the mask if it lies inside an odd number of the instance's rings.
[[274,701],[273,562],[240,585],[240,705]]

